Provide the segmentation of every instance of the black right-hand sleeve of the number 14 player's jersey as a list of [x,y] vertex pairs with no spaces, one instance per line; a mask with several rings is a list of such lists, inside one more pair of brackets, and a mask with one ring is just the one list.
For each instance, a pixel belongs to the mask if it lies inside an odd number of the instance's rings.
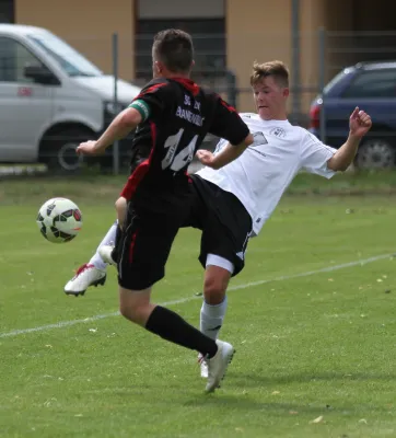
[[240,145],[249,134],[245,122],[236,110],[214,95],[214,114],[209,132],[225,138],[231,145]]

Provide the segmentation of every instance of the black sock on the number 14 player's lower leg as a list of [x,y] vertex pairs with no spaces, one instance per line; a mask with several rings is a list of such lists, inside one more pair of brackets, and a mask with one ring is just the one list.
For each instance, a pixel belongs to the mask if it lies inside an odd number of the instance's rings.
[[203,356],[208,355],[208,358],[213,357],[218,351],[213,339],[193,327],[177,313],[161,306],[156,306],[152,311],[145,328],[174,344],[195,349]]

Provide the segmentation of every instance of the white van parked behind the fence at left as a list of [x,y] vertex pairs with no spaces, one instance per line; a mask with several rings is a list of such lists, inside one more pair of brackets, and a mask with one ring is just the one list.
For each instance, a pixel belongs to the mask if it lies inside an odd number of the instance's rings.
[[75,171],[75,146],[95,139],[140,88],[104,74],[53,33],[0,24],[0,162]]

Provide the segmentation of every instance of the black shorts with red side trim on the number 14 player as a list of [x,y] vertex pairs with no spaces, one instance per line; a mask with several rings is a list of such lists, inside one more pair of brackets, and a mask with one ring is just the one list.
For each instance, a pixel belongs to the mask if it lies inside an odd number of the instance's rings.
[[158,212],[128,203],[125,232],[117,246],[119,286],[143,290],[164,277],[173,241],[187,214],[188,206],[177,212]]

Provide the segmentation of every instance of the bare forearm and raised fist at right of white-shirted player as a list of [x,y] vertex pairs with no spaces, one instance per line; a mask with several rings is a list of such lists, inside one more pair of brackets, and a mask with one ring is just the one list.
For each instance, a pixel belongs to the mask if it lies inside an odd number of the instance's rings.
[[327,168],[333,171],[346,171],[358,152],[361,139],[372,126],[371,117],[357,106],[349,117],[349,136],[347,141],[328,160]]

